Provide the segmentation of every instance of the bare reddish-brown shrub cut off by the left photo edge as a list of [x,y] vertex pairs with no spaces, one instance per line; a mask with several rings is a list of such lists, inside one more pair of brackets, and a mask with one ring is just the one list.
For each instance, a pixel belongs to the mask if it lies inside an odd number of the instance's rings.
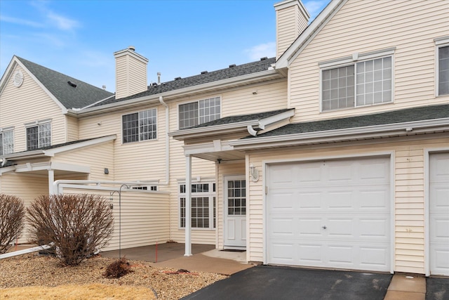
[[0,254],[11,248],[24,227],[25,207],[19,197],[0,194]]

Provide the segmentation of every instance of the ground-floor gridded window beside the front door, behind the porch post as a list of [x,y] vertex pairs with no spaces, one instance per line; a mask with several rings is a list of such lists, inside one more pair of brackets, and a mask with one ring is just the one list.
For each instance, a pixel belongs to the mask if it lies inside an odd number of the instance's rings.
[[[213,229],[215,221],[215,183],[192,184],[192,228]],[[185,228],[185,184],[180,185],[180,227]]]

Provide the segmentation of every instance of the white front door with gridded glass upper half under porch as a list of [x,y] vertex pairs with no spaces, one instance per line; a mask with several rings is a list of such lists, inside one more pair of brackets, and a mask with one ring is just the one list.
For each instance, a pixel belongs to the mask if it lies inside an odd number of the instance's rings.
[[225,177],[225,248],[246,247],[245,176]]

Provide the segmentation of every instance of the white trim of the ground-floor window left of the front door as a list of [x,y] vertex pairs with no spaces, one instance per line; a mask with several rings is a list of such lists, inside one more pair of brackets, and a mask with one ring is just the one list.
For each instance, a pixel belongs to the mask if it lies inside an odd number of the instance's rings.
[[[206,230],[215,231],[217,229],[218,216],[215,215],[215,227],[213,227],[213,198],[215,197],[215,207],[217,207],[217,184],[215,181],[192,181],[194,184],[209,184],[209,191],[207,193],[191,193],[192,197],[209,197],[209,223],[212,227],[209,228],[196,228],[192,227],[192,230]],[[215,192],[213,191],[213,184],[215,183]],[[185,227],[181,227],[181,198],[185,198],[185,193],[180,193],[180,186],[185,185],[185,181],[179,181],[177,183],[177,229],[185,230]],[[186,186],[187,188],[187,186]],[[191,187],[192,188],[192,187]],[[212,200],[210,200],[212,199]],[[212,205],[210,205],[212,204]],[[191,216],[192,217],[192,216]],[[210,222],[212,221],[212,222]],[[192,223],[191,223],[192,224]]]

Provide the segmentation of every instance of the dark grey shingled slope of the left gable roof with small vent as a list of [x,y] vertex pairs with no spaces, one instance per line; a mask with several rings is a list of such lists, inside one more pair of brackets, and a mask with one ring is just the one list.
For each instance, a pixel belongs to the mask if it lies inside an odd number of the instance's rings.
[[[85,107],[114,95],[114,93],[32,63],[24,58],[17,58],[67,109]],[[68,81],[72,82],[72,85]],[[76,84],[76,87],[73,84]]]

